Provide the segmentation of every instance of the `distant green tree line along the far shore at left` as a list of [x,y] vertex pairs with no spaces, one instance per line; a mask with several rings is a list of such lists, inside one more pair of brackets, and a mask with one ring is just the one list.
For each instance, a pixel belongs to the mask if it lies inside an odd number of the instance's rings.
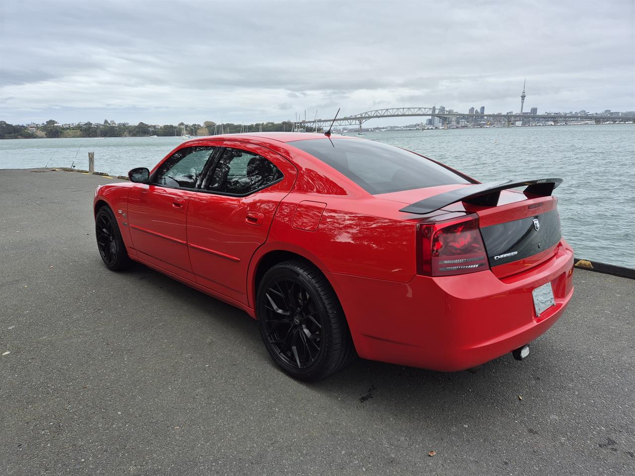
[[[206,136],[220,133],[291,131],[293,128],[294,124],[291,121],[257,122],[255,124],[233,124],[231,122],[217,124],[214,121],[205,121],[203,124],[179,122],[176,125],[139,122],[135,126],[127,122],[117,124],[115,121],[105,119],[103,123],[84,122],[74,126],[61,126],[54,119],[50,119],[36,127],[0,121],[0,139],[180,136],[182,133],[190,136]],[[313,129],[307,127],[306,131],[312,132]]]

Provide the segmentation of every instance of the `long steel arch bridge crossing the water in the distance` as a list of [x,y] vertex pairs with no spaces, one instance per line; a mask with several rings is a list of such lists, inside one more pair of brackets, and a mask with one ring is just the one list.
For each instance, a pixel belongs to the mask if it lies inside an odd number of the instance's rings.
[[[331,123],[338,124],[340,126],[361,126],[364,122],[370,119],[377,119],[378,117],[439,117],[444,124],[448,124],[449,121],[454,119],[455,121],[465,120],[474,121],[474,119],[481,119],[481,121],[488,122],[506,122],[507,125],[514,121],[524,121],[525,119],[546,119],[549,121],[605,121],[610,119],[611,121],[623,122],[623,121],[635,121],[635,116],[573,116],[565,114],[466,114],[463,112],[443,112],[436,109],[436,107],[394,107],[391,109],[375,109],[366,112],[360,112],[359,114],[352,114],[351,116],[338,117],[337,119],[315,119],[314,121],[300,121],[298,125],[311,126],[312,128],[319,128],[324,126],[330,126]],[[333,122],[335,121],[335,122]]]

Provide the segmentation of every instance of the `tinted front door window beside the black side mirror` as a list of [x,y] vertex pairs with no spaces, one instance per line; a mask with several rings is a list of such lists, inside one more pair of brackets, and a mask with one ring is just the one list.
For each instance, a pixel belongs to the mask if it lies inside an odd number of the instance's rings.
[[199,188],[203,168],[215,147],[185,147],[163,162],[154,183],[168,187]]

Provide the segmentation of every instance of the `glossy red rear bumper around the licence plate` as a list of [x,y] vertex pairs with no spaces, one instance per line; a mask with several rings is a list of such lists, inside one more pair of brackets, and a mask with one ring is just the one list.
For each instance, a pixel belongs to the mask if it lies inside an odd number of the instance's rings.
[[[573,250],[498,279],[490,270],[408,283],[326,273],[360,357],[439,371],[478,366],[543,334],[573,295]],[[531,291],[551,282],[556,305],[535,315]]]

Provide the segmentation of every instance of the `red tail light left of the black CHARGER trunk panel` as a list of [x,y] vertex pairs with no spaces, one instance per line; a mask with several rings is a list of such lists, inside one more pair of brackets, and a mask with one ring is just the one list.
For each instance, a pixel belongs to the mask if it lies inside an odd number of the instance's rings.
[[419,274],[449,276],[490,268],[476,215],[420,224],[418,246]]

